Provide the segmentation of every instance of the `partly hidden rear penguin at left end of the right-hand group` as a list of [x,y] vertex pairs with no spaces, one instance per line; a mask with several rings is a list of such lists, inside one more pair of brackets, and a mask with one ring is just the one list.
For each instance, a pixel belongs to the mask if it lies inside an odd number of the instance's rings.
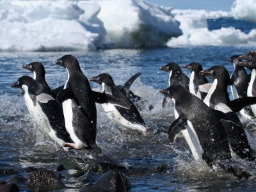
[[[169,86],[173,84],[180,84],[189,90],[189,78],[182,72],[179,65],[175,62],[170,62],[165,66],[159,67],[159,70],[163,70],[169,73]],[[170,98],[164,97],[163,108],[166,108]]]

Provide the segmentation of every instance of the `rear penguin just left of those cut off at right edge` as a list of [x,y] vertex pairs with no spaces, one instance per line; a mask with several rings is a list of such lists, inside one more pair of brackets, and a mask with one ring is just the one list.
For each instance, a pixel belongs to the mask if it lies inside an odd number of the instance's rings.
[[[234,65],[234,72],[230,78],[230,90],[234,99],[247,97],[248,84],[250,83],[250,76],[248,76],[244,67],[236,65],[239,63],[239,56],[234,55],[228,59]],[[255,118],[252,108],[250,106],[243,108],[239,113],[249,119]]]

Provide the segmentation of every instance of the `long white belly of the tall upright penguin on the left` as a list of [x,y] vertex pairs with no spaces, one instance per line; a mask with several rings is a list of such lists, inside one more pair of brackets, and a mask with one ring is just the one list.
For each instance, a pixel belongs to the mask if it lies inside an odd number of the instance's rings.
[[[65,100],[62,103],[62,108],[63,108],[63,114],[64,114],[64,118],[65,118],[65,127],[67,129],[67,132],[70,135],[70,138],[79,147],[84,147],[85,144],[81,140],[79,140],[79,138],[77,138],[75,131],[74,131],[74,127],[73,127],[73,123],[72,123],[73,122],[72,100],[71,99]],[[85,145],[85,146],[87,147],[87,145]]]

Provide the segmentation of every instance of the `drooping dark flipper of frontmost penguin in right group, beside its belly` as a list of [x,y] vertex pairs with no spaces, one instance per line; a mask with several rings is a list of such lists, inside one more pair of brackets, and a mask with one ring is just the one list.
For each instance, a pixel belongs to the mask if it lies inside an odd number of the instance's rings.
[[180,134],[182,130],[186,129],[186,125],[187,125],[187,119],[184,118],[182,115],[180,115],[179,118],[177,118],[172,123],[172,125],[168,130],[168,135],[171,143],[174,143],[178,134]]

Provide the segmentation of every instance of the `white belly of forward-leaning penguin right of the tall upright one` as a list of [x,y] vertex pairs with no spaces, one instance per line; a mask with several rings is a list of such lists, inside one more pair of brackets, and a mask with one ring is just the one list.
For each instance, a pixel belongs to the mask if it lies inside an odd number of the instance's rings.
[[109,118],[111,118],[111,120],[113,120],[113,122],[115,122],[116,124],[120,124],[124,127],[127,127],[129,129],[135,129],[135,130],[139,130],[142,132],[146,132],[147,131],[147,127],[145,127],[144,125],[141,124],[132,124],[132,122],[129,122],[128,120],[126,120],[119,112],[118,110],[115,108],[115,106],[113,104],[102,104],[102,108],[104,109],[104,111],[106,111],[106,114],[108,115]]

